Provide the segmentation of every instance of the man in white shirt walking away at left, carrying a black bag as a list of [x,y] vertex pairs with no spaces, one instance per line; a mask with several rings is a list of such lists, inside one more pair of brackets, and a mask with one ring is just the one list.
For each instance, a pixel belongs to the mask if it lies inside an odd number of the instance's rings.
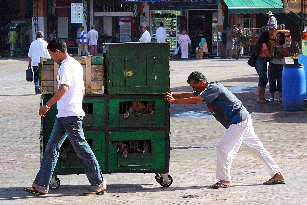
[[49,56],[49,52],[47,50],[48,43],[43,40],[44,33],[42,31],[37,31],[36,33],[37,39],[33,41],[29,48],[28,58],[29,58],[29,66],[33,67],[34,73],[34,87],[35,94],[41,94],[41,89],[38,85],[38,73],[37,73],[37,65],[39,64],[40,56]]

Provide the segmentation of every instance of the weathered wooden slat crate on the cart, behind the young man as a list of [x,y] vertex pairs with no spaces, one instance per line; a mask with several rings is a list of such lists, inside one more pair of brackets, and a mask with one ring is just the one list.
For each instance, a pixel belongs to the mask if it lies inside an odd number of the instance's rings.
[[[103,57],[72,56],[83,67],[83,80],[86,94],[103,94]],[[54,94],[58,89],[57,73],[60,64],[50,56],[40,57],[38,79],[42,94]]]

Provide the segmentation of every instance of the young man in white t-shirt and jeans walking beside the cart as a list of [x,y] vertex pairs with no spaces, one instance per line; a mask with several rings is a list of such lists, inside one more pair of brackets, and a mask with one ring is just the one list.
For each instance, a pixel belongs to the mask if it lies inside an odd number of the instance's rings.
[[32,187],[24,188],[25,191],[46,195],[49,191],[49,183],[54,167],[59,157],[62,143],[67,136],[79,158],[83,160],[86,176],[91,183],[91,189],[84,195],[105,194],[107,183],[103,179],[102,172],[96,157],[87,144],[82,129],[82,99],[85,95],[83,82],[83,68],[78,61],[67,53],[67,46],[60,38],[49,42],[47,49],[51,58],[56,63],[61,63],[57,74],[58,90],[53,97],[40,108],[38,114],[45,117],[52,105],[57,103],[58,113],[54,122],[50,139],[41,162],[41,168],[36,175]]

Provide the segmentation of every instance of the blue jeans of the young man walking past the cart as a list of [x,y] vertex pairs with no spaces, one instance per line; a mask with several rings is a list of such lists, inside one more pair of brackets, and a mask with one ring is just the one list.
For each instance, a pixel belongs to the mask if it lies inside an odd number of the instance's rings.
[[97,189],[106,184],[96,157],[85,140],[82,129],[82,118],[56,118],[41,161],[41,168],[32,184],[33,187],[45,191],[49,190],[52,173],[59,158],[60,147],[66,136],[68,136],[77,156],[83,160],[87,179],[91,183],[91,189]]

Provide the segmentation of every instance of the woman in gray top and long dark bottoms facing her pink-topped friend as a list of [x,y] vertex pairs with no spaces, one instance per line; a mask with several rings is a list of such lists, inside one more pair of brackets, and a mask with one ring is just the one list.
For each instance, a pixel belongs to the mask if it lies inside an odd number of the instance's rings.
[[286,37],[282,32],[278,32],[275,40],[271,44],[272,57],[268,67],[270,102],[274,101],[274,92],[278,91],[279,102],[282,102],[282,69],[286,64],[285,57],[289,56]]

